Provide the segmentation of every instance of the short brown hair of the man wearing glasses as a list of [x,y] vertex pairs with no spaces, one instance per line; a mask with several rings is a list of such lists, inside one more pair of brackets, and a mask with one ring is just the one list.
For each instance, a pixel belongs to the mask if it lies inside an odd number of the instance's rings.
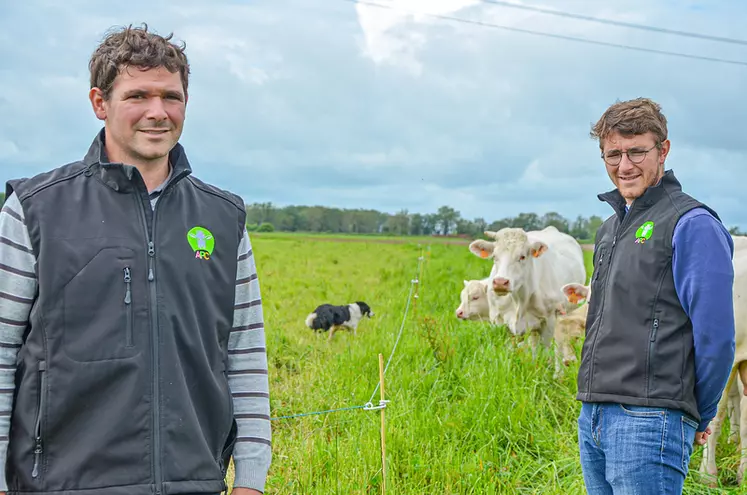
[[590,136],[603,141],[613,132],[623,136],[635,136],[652,132],[656,146],[667,140],[667,118],[661,113],[661,105],[648,98],[620,101],[610,106],[591,129]]

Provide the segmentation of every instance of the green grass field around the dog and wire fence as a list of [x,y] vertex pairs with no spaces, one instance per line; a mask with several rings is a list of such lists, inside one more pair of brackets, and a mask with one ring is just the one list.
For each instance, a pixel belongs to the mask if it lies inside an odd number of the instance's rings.
[[[425,250],[419,297],[386,374],[387,493],[584,493],[576,437],[580,404],[574,400],[578,363],[554,381],[550,352],[533,362],[504,329],[454,316],[462,280],[487,276],[488,261],[464,245],[427,238],[252,239],[273,417],[369,400],[378,354],[390,355]],[[590,270],[590,252],[585,255]],[[357,338],[340,331],[329,342],[304,326],[317,304],[356,300],[376,314],[361,323]],[[377,392],[374,403],[378,399]],[[380,425],[378,411],[362,409],[274,420],[266,493],[381,493]],[[738,457],[726,443],[727,430],[719,478],[733,490]],[[693,475],[700,459],[696,447],[685,493],[736,493],[698,483]]]

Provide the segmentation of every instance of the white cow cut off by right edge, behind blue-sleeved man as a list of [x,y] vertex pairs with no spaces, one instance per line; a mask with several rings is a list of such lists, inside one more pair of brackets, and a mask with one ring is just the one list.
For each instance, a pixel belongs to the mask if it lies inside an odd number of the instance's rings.
[[[721,433],[721,424],[727,412],[732,419],[730,422],[738,424],[739,438],[742,449],[747,449],[747,237],[734,236],[734,322],[736,333],[736,353],[734,366],[727,382],[721,402],[718,405],[716,417],[711,421],[711,435],[703,452],[700,465],[701,473],[717,475],[716,444]],[[739,400],[734,400],[734,387],[738,387]],[[731,406],[731,407],[730,407]],[[731,410],[729,410],[731,409]],[[733,414],[733,415],[732,415]],[[739,419],[736,416],[739,416]],[[732,427],[732,430],[734,427]],[[737,480],[741,485],[747,469],[747,451],[743,450]]]

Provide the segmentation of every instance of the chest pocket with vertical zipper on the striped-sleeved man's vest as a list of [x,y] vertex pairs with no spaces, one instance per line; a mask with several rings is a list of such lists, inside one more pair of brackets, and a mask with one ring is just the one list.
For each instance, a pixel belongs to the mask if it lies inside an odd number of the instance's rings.
[[70,359],[106,361],[140,352],[135,319],[144,294],[137,290],[136,261],[131,249],[103,248],[64,286],[62,340]]

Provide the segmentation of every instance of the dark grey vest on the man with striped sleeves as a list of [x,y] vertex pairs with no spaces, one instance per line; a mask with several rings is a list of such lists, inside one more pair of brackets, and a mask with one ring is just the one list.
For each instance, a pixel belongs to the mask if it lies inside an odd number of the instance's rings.
[[[12,493],[225,487],[244,206],[192,177],[181,146],[170,159],[172,181],[155,212],[137,170],[107,163],[103,133],[83,161],[8,184],[39,281],[18,354]],[[212,233],[206,249],[190,243],[195,226]]]

